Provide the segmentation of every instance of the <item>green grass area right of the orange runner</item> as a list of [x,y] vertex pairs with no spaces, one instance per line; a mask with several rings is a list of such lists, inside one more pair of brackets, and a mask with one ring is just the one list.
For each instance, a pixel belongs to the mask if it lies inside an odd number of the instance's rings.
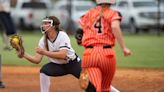
[[117,46],[119,67],[164,68],[164,36],[133,35],[124,38],[133,55],[123,57]]

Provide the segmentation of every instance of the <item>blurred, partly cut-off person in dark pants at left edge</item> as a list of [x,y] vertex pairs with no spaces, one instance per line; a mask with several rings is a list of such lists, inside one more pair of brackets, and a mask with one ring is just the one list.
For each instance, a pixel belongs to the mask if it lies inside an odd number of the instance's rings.
[[5,28],[3,32],[4,50],[11,50],[9,37],[16,34],[16,28],[10,15],[10,0],[0,0],[0,26]]

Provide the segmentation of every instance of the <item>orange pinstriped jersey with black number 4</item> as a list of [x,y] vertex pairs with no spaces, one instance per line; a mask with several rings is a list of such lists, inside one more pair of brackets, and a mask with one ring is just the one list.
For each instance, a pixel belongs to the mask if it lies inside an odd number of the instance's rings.
[[102,7],[96,6],[82,16],[79,21],[83,28],[82,45],[84,47],[115,44],[111,23],[114,20],[120,20],[121,16],[117,11],[109,8],[104,9],[101,16],[101,10]]

